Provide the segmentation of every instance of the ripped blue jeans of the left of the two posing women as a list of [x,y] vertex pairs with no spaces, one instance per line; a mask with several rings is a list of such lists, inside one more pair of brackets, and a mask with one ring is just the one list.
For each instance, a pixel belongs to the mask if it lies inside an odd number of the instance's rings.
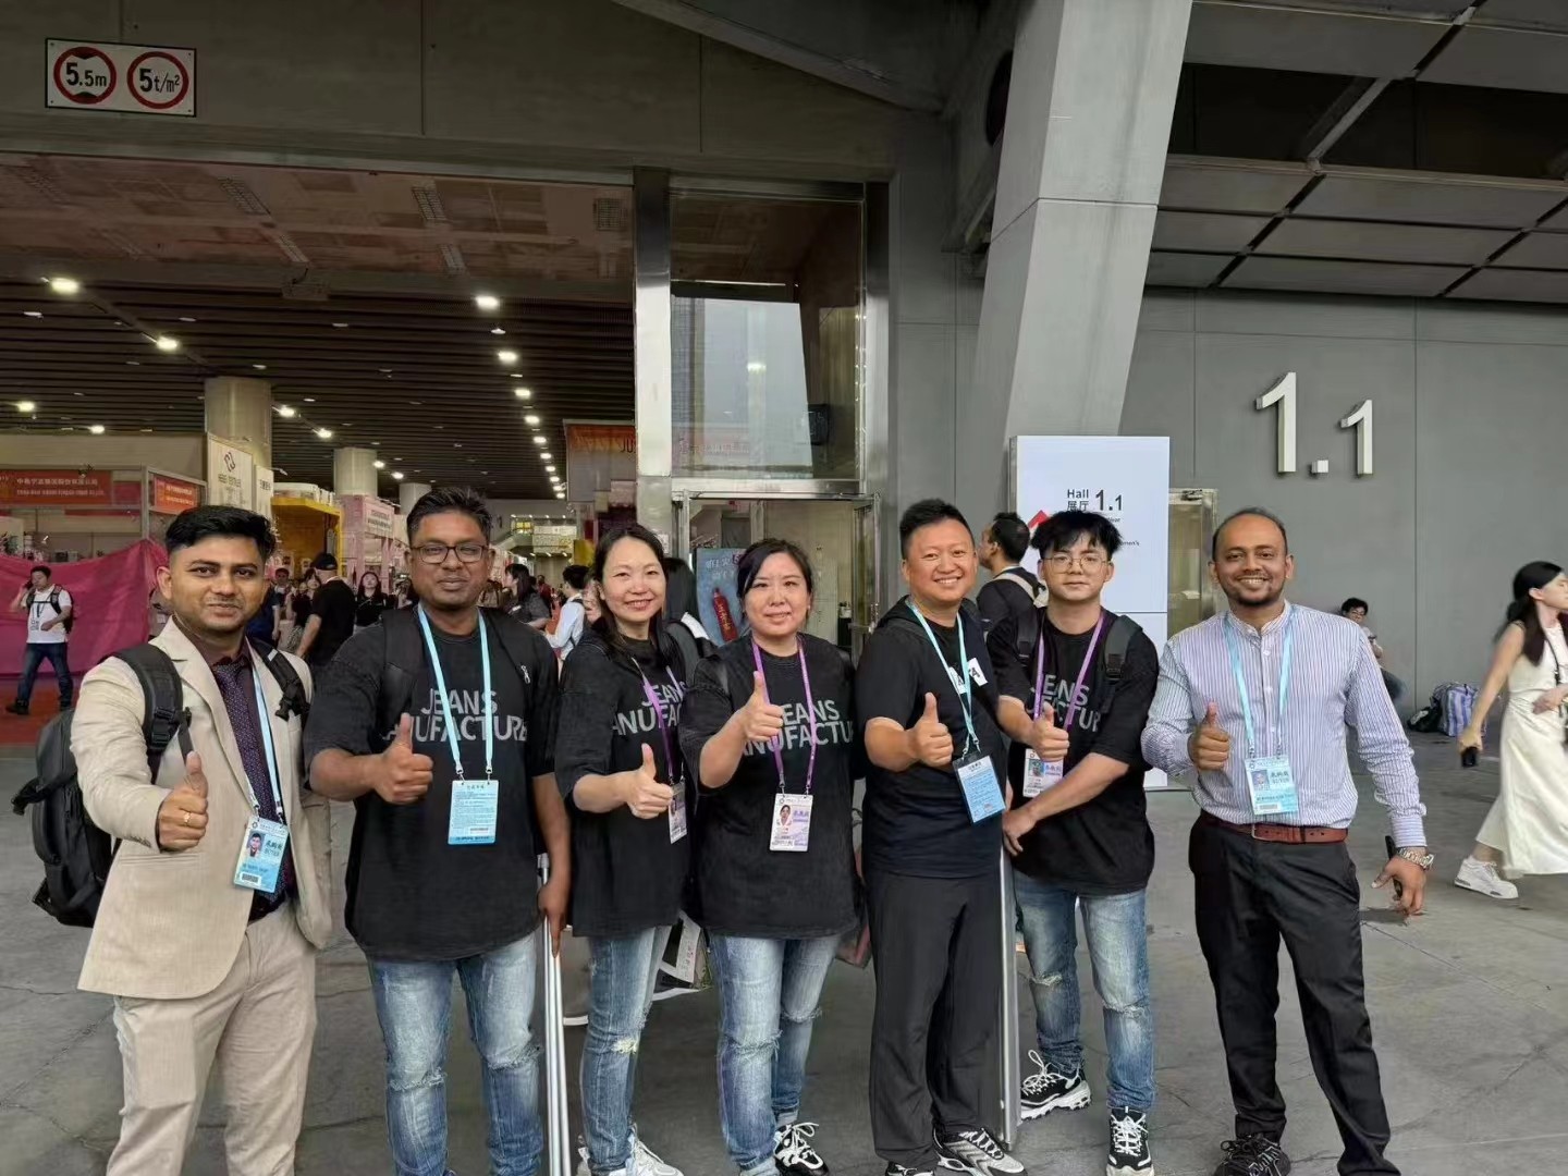
[[594,1176],[619,1171],[632,1156],[637,1051],[668,941],[668,927],[588,941],[588,1036],[579,1087]]

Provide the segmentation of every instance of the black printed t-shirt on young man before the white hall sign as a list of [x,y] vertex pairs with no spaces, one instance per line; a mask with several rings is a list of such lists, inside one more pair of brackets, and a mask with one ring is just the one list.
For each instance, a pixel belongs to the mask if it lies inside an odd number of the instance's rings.
[[[1140,737],[1160,676],[1159,654],[1142,630],[1134,633],[1121,681],[1112,693],[1105,676],[1105,643],[1115,619],[1115,613],[1105,613],[1105,632],[1077,696],[1073,729],[1068,732],[1068,757],[1062,767],[1063,771],[1073,771],[1093,751],[1126,764],[1127,773],[1087,804],[1040,822],[1024,837],[1024,851],[1013,859],[1033,878],[1087,895],[1142,891],[1154,872],[1154,831],[1149,828],[1143,792],[1148,764],[1140,750]],[[1038,626],[1036,632],[1043,632],[1046,638],[1044,695],[1055,704],[1057,723],[1065,723],[1069,695],[1083,668],[1083,655],[1094,630],[1063,633],[1046,619],[1043,608],[1038,612]],[[1005,640],[1002,630],[996,637]],[[1036,643],[1027,673],[1030,713],[1038,671]],[[1008,770],[1013,806],[1018,808],[1027,803],[1022,792],[1022,746],[1013,748]]]

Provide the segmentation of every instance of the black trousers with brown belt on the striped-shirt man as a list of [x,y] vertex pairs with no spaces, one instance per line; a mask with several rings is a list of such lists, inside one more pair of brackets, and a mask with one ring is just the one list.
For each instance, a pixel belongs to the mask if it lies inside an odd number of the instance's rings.
[[1254,840],[1200,820],[1187,853],[1236,1104],[1236,1134],[1284,1134],[1275,1082],[1279,941],[1295,969],[1317,1085],[1339,1124],[1342,1176],[1397,1176],[1361,977],[1361,887],[1344,842]]

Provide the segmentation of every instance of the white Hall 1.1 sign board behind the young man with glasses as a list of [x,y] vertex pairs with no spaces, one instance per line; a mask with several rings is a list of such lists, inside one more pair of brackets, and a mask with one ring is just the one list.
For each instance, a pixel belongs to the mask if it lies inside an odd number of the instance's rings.
[[[1104,514],[1121,532],[1104,604],[1137,621],[1156,649],[1170,608],[1170,437],[1013,437],[1013,508],[1033,532],[1066,510]],[[1030,549],[1025,566],[1035,568]],[[1145,776],[1163,789],[1162,771]]]

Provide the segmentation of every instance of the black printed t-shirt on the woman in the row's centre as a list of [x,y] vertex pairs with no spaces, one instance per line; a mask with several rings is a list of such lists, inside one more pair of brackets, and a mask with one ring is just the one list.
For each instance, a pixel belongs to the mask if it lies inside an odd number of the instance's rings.
[[[696,894],[701,924],[720,935],[808,939],[855,924],[856,731],[853,681],[836,646],[800,635],[817,717],[811,784],[811,836],[804,853],[770,850],[778,762],[767,743],[750,743],[728,784],[701,789],[696,811]],[[721,681],[720,666],[723,666]],[[787,792],[806,789],[811,720],[798,657],[762,654],[768,701],[784,707],[781,754]],[[691,771],[702,748],[751,698],[751,641],[731,641],[698,668],[681,707],[681,748]]]

